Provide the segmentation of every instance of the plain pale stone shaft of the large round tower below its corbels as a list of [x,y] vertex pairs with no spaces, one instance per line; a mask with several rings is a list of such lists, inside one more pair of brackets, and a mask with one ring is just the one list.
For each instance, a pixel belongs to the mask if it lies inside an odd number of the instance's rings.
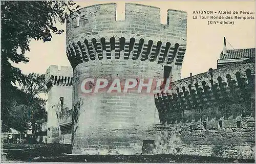
[[[159,68],[158,65],[150,65],[151,63],[146,62],[141,65],[133,61],[121,64],[120,61],[109,61],[101,65],[84,66],[79,64],[76,66],[74,86],[78,87],[74,88],[75,138],[73,152],[138,154],[141,152],[142,145],[133,148],[116,146],[119,146],[120,143],[136,145],[142,139],[140,137],[146,137],[139,134],[143,132],[143,126],[159,122],[153,95],[139,95],[133,92],[125,94],[102,92],[84,95],[79,90],[82,80],[86,78],[142,78],[145,77],[143,74],[147,77],[154,77],[159,75],[150,71],[161,70],[160,66]],[[138,72],[138,70],[142,71]],[[134,131],[135,128],[138,130]],[[87,144],[88,142],[91,144]],[[102,142],[102,144],[95,145],[98,142]],[[101,149],[98,150],[98,147]],[[118,148],[120,149],[116,150]],[[129,148],[131,150],[126,150]]]

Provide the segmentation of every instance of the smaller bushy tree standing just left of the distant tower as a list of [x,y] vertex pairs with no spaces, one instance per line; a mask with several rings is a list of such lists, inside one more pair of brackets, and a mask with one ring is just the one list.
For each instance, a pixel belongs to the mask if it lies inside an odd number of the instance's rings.
[[7,129],[12,127],[19,131],[28,129],[28,122],[31,123],[33,134],[36,133],[37,125],[47,120],[46,100],[39,97],[39,93],[47,91],[45,86],[45,75],[31,73],[25,75],[25,82],[21,89],[16,88],[14,99],[9,100],[9,105],[4,106],[8,111],[6,120]]

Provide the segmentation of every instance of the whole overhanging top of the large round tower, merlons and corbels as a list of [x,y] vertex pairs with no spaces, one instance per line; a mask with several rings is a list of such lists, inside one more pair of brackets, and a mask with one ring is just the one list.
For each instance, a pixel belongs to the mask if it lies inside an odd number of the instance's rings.
[[[67,24],[67,54],[73,68],[82,61],[110,59],[110,56],[122,59],[122,50],[124,59],[131,55],[133,60],[159,63],[164,62],[170,51],[167,64],[174,59],[172,51],[177,49],[176,44],[185,53],[187,13],[184,11],[169,9],[167,25],[160,24],[160,9],[152,6],[125,4],[124,21],[116,20],[113,3],[85,7],[80,12],[77,19]],[[82,56],[71,57],[77,54]],[[177,64],[181,65],[182,60]]]

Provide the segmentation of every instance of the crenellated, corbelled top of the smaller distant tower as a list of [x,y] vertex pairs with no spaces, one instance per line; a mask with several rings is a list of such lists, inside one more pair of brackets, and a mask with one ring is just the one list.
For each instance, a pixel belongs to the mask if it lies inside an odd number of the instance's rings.
[[46,71],[46,86],[72,86],[73,70],[70,66],[50,65]]

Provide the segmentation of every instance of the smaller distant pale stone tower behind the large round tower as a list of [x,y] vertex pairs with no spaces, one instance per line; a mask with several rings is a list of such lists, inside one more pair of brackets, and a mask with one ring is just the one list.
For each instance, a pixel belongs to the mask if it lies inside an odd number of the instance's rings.
[[47,69],[47,143],[71,144],[72,73],[70,66],[50,65]]

